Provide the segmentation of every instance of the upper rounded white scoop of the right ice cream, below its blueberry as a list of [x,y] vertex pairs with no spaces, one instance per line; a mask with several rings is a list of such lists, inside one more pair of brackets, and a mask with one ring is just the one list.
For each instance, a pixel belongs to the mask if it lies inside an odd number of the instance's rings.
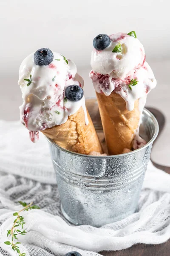
[[108,47],[93,49],[91,67],[95,73],[105,75],[114,72],[115,77],[123,79],[144,63],[144,47],[137,38],[125,33],[113,34],[109,38]]

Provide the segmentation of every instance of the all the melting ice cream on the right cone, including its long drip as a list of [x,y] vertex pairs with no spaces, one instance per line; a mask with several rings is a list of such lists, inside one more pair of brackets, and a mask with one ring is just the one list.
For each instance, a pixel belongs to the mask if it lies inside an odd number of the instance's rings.
[[[144,47],[137,38],[125,33],[110,36],[111,43],[101,51],[93,49],[91,54],[92,71],[90,77],[98,93],[106,96],[113,91],[118,93],[126,102],[128,111],[132,111],[134,103],[139,99],[139,111],[146,103],[147,94],[156,86],[156,79],[150,66],[145,61]],[[121,44],[121,52],[112,52],[117,44]],[[138,83],[129,88],[131,80]],[[141,123],[141,118],[139,125]],[[133,147],[144,145],[144,140],[139,137],[139,127],[136,130]]]

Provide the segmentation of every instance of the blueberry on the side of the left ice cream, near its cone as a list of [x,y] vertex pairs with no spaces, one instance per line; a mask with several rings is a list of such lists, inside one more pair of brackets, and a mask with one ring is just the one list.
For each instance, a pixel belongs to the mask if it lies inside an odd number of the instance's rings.
[[73,84],[65,88],[65,97],[71,101],[79,101],[83,95],[84,91],[79,85]]

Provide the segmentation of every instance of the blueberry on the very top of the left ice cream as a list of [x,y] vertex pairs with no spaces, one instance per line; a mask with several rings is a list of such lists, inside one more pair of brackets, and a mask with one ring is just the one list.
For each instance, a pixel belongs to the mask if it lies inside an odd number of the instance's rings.
[[34,62],[37,66],[47,66],[53,61],[54,55],[48,48],[38,49],[34,53]]

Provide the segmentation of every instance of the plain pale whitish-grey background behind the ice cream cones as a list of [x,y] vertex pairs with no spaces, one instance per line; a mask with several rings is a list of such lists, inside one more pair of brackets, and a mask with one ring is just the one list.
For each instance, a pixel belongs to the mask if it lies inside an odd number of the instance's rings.
[[85,80],[85,96],[95,96],[88,78],[93,38],[132,30],[158,80],[147,105],[161,109],[169,120],[153,157],[170,165],[168,0],[0,0],[0,119],[19,119],[18,69],[28,54],[47,47],[70,58]]

